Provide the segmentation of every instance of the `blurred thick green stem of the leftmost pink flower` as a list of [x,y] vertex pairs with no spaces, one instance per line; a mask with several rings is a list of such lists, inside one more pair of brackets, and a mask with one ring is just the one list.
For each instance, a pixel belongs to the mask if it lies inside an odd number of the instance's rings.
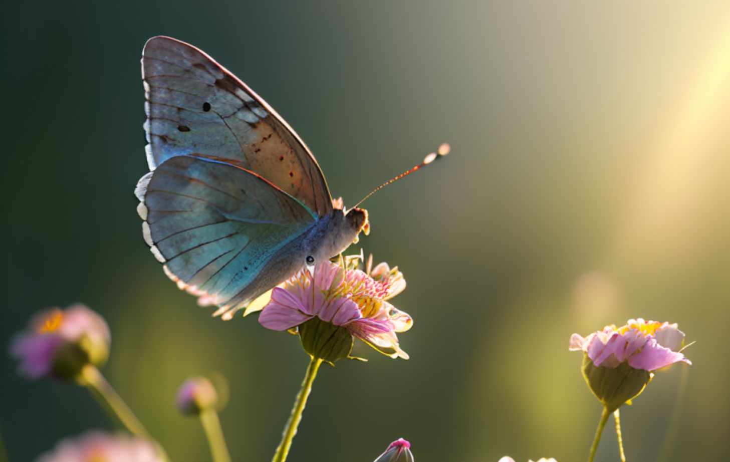
[[158,453],[162,455],[165,461],[169,461],[169,457],[163,447],[153,439],[145,426],[142,425],[142,422],[129,409],[122,397],[117,393],[117,390],[112,388],[110,382],[101,374],[99,369],[91,366],[91,364],[84,366],[81,370],[80,382],[81,385],[88,388],[91,394],[101,402],[102,407],[107,409],[111,415],[116,417],[126,427],[129,433],[155,443]]

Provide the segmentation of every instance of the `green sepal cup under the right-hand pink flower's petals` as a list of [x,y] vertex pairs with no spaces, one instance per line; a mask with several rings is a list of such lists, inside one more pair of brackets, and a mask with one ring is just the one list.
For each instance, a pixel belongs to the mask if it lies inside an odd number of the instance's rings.
[[650,371],[634,369],[624,361],[616,367],[596,366],[588,354],[583,355],[583,378],[593,395],[609,412],[639,396],[653,377]]

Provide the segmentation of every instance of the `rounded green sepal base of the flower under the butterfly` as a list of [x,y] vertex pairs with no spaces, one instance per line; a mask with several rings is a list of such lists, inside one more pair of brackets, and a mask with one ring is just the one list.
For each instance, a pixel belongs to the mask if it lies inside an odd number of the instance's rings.
[[326,323],[319,317],[299,325],[299,339],[304,351],[332,366],[338,359],[350,355],[355,340],[346,328]]

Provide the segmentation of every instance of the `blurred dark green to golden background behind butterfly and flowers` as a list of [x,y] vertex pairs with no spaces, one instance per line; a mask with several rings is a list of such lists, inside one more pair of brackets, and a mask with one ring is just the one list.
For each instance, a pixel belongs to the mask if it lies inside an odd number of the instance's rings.
[[[730,450],[730,4],[726,1],[126,1],[3,7],[0,188],[6,345],[83,301],[104,369],[174,461],[210,460],[174,392],[218,371],[236,461],[274,452],[307,366],[294,336],[223,322],[163,274],[132,191],[147,172],[139,58],[164,34],[247,82],[352,205],[441,142],[452,154],[369,199],[376,261],[415,319],[410,361],[323,367],[291,461],[585,460],[601,407],[569,353],[630,317],[680,324],[694,366],[622,412],[634,461]],[[0,361],[10,461],[114,428],[72,384]],[[596,460],[615,461],[608,428]]]

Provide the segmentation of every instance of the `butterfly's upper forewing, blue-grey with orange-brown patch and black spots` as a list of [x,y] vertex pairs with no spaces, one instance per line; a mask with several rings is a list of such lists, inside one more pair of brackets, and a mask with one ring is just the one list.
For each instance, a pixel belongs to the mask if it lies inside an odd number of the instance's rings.
[[256,93],[201,50],[153,37],[142,52],[147,163],[199,153],[241,166],[299,199],[318,216],[332,199],[317,161]]

